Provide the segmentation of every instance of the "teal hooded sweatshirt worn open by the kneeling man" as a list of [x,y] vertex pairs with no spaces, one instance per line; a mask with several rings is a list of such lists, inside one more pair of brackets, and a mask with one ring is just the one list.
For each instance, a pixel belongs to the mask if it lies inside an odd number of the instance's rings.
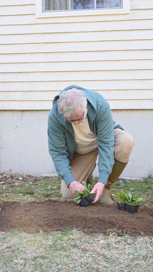
[[[77,85],[70,85],[61,93],[72,88],[79,89],[87,98],[89,127],[97,136],[99,182],[106,184],[114,165],[114,128],[123,128],[113,121],[110,106],[102,95]],[[58,111],[59,95],[55,96],[48,117],[48,147],[57,174],[68,186],[75,180],[69,166],[75,149],[75,138],[72,124],[65,122]]]

